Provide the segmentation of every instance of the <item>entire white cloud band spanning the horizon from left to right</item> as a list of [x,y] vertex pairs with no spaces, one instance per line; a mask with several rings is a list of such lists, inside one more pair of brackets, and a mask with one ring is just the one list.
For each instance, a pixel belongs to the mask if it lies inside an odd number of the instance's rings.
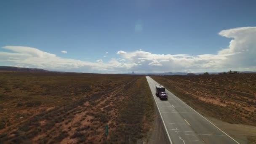
[[63,59],[55,54],[24,46],[4,46],[0,62],[21,67],[79,72],[205,72],[223,70],[256,71],[256,27],[241,27],[219,32],[232,38],[227,48],[201,55],[156,54],[148,51],[117,51],[120,58],[103,62]]

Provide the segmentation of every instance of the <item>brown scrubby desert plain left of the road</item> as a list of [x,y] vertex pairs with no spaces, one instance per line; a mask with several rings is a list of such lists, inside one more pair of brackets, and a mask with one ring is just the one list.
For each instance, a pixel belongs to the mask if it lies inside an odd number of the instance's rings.
[[143,76],[0,72],[0,143],[147,141],[154,114]]

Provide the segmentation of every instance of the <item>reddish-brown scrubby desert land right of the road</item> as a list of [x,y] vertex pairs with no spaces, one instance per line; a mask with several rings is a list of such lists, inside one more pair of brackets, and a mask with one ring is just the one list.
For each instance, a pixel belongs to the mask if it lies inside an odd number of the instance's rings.
[[256,73],[152,78],[232,136],[256,143]]

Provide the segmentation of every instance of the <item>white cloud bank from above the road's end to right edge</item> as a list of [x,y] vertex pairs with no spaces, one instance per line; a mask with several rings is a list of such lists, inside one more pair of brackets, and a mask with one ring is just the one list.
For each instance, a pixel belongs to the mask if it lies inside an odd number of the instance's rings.
[[[133,51],[120,54],[133,63],[141,63],[140,70],[194,72],[222,71],[226,69],[256,70],[256,27],[227,29],[219,32],[223,37],[233,38],[229,47],[214,54],[191,56],[188,54],[154,54],[147,51]],[[149,67],[150,66],[150,67]],[[138,70],[138,69],[136,69]]]

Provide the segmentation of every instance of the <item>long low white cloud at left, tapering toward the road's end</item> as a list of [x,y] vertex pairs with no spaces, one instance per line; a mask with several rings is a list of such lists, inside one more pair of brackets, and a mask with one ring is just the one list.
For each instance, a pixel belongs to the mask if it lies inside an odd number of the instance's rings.
[[0,62],[19,67],[43,68],[67,72],[96,72],[117,73],[135,67],[137,64],[122,63],[110,60],[107,63],[80,61],[76,59],[64,59],[52,53],[40,51],[37,48],[8,45],[2,47],[11,52],[0,51]]

